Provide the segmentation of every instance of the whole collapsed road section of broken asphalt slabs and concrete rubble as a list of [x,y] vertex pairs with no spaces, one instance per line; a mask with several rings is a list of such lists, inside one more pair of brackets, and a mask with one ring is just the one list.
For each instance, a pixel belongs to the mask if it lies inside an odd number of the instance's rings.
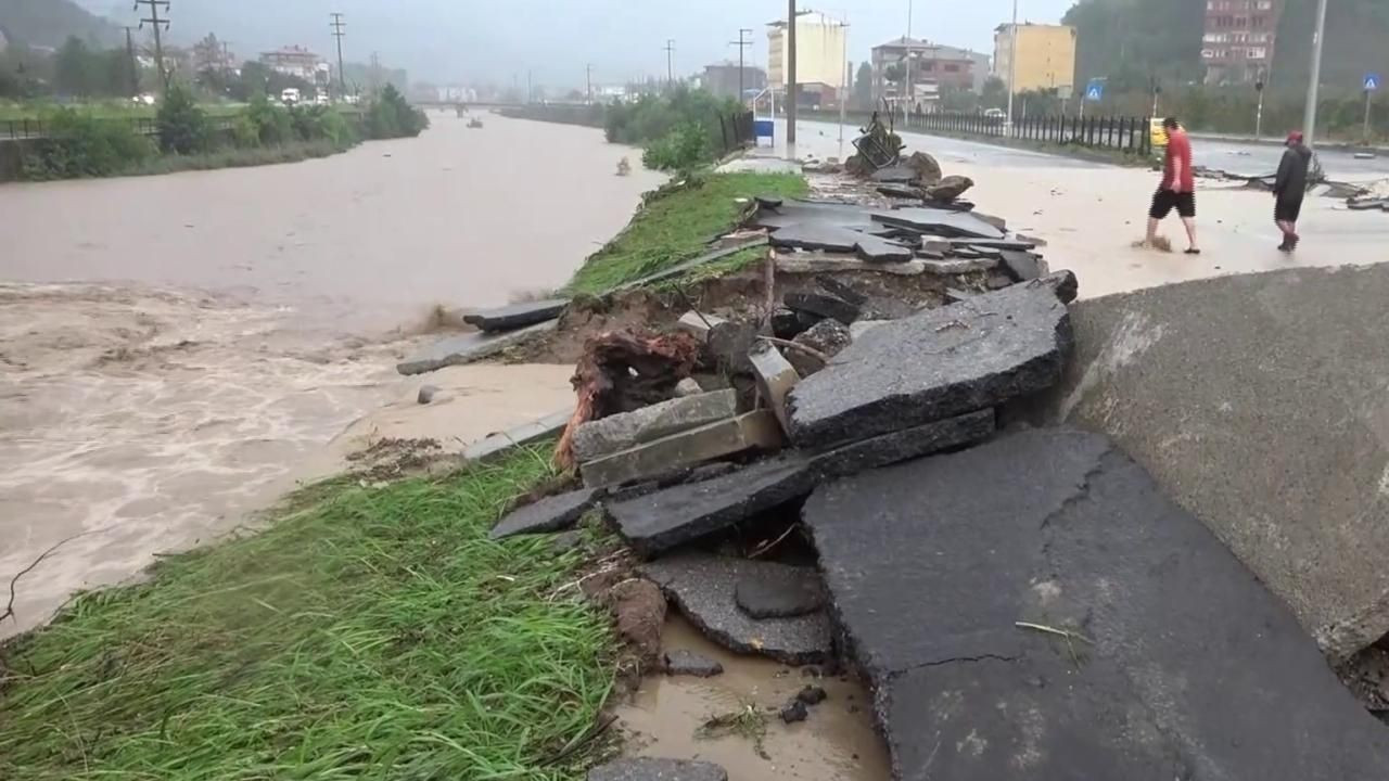
[[[1383,775],[1389,732],[1328,657],[1389,631],[1389,270],[1076,302],[904,168],[760,199],[771,250],[718,311],[588,334],[557,449],[585,485],[496,534],[600,525],[626,589],[714,642],[860,674],[896,778]],[[501,314],[521,340],[579,322]],[[1342,406],[1308,410],[1328,386]],[[592,777],[720,773],[644,766]]]

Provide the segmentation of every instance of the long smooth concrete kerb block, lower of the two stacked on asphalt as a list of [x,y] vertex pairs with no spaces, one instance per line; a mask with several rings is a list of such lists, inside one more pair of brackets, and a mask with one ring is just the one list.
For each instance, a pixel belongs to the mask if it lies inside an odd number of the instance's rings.
[[782,442],[776,416],[757,410],[604,456],[581,471],[585,485],[615,485],[745,450],[775,450]]

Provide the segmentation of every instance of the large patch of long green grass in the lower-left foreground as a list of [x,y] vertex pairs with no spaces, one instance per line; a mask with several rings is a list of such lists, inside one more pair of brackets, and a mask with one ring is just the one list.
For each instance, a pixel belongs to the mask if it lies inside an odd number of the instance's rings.
[[[301,492],[268,531],[164,560],[3,649],[0,778],[567,778],[611,685],[581,557],[486,529],[550,474]],[[569,757],[567,762],[582,762]]]

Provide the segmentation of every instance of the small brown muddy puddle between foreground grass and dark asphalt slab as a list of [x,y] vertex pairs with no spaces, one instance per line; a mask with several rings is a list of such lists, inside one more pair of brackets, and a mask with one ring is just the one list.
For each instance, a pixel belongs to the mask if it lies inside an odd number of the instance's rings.
[[[683,618],[667,621],[665,650],[685,649],[717,659],[724,674],[713,678],[653,675],[642,681],[631,703],[617,709],[626,745],[624,753],[713,762],[731,781],[795,778],[799,781],[886,781],[888,749],[874,731],[871,695],[858,681],[806,678],[776,661],[736,656],[704,639]],[[783,724],[776,716],[807,684],[824,687],[829,698],[810,709],[810,718]],[[713,716],[749,705],[767,712],[767,737],[758,756],[753,741],[729,735],[700,738]]]

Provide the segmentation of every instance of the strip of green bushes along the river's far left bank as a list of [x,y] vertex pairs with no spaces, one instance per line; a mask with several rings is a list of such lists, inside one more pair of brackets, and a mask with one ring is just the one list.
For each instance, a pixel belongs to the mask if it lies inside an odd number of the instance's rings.
[[390,85],[361,111],[286,107],[256,94],[244,110],[213,117],[192,90],[174,82],[158,103],[153,135],[129,120],[54,110],[43,120],[44,138],[28,146],[21,176],[44,181],[292,163],[346,151],[363,139],[418,136],[428,124]]

